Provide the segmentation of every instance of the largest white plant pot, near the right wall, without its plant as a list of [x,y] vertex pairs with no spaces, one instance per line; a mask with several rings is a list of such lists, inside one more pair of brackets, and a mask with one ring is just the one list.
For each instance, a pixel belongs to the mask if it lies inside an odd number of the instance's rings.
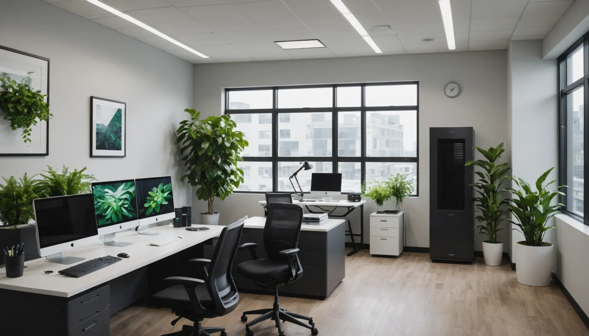
[[550,285],[554,244],[547,242],[550,246],[528,246],[522,243],[525,241],[518,241],[515,245],[517,281],[536,287]]

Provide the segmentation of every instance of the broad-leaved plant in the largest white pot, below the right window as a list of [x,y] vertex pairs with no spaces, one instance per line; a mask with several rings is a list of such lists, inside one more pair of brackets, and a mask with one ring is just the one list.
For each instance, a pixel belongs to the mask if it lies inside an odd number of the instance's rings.
[[517,225],[525,240],[515,245],[517,255],[517,281],[529,286],[548,286],[552,273],[552,258],[554,244],[544,241],[544,234],[552,227],[547,226],[548,219],[558,214],[561,203],[552,204],[557,195],[564,195],[558,191],[565,185],[557,187],[556,191],[548,191],[548,185],[556,180],[544,183],[546,177],[554,167],[548,169],[536,181],[536,191],[524,179],[509,177],[518,186],[518,190],[507,188],[511,192],[509,211],[515,215],[517,221],[509,220]]

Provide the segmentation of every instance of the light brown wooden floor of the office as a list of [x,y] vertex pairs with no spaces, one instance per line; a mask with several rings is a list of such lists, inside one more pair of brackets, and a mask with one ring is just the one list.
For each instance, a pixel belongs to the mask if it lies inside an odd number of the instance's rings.
[[[204,325],[243,336],[241,312],[271,308],[272,302],[267,295],[240,294],[235,311]],[[313,317],[323,336],[589,335],[554,284],[519,284],[505,261],[500,267],[485,266],[480,259],[473,265],[439,264],[423,253],[392,259],[361,251],[346,257],[346,278],[327,300],[281,297],[280,307]],[[173,319],[166,309],[128,307],[111,317],[111,336],[157,336],[190,322],[171,327]],[[287,336],[310,335],[288,322],[283,328]],[[278,334],[273,321],[252,330],[256,336]]]

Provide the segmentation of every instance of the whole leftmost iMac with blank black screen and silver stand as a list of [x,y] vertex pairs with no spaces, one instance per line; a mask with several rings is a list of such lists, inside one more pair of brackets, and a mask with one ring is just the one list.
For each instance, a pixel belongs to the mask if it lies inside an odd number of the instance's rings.
[[64,257],[61,252],[98,242],[92,194],[78,194],[33,201],[39,255],[58,264],[74,264],[84,258]]

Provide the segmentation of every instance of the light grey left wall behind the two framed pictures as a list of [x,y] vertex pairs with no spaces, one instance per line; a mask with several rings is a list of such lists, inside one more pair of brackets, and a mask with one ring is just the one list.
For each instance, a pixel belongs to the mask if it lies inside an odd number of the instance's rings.
[[[49,58],[48,157],[0,157],[0,176],[45,165],[88,167],[101,180],[173,175],[180,184],[174,129],[193,98],[192,65],[143,42],[39,0],[0,0],[0,45]],[[127,103],[127,157],[90,158],[90,96]]]

